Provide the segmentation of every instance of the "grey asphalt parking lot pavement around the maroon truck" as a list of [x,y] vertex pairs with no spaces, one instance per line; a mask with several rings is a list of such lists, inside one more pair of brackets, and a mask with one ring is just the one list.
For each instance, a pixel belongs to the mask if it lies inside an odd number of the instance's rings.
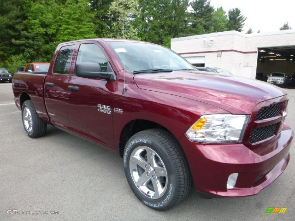
[[[286,122],[295,129],[295,89]],[[48,126],[27,136],[11,83],[0,83],[0,220],[294,220],[295,141],[284,173],[258,195],[202,199],[191,189],[179,205],[152,210],[132,193],[122,158]],[[201,178],[200,178],[201,179]],[[266,214],[286,207],[284,214]]]

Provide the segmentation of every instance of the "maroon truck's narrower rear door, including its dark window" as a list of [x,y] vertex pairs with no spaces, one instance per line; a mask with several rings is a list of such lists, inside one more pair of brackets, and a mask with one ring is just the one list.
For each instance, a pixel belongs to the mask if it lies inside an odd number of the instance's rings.
[[54,124],[63,128],[70,127],[67,105],[69,100],[68,80],[71,57],[75,47],[76,44],[71,44],[59,49],[52,72],[45,79],[45,105],[48,115]]

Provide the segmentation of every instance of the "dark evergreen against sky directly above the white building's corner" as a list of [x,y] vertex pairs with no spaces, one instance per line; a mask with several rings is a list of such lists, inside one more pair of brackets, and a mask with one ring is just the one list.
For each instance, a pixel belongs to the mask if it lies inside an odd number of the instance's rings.
[[238,8],[230,9],[228,11],[229,30],[236,30],[238,32],[243,31],[247,17],[241,14],[241,10]]

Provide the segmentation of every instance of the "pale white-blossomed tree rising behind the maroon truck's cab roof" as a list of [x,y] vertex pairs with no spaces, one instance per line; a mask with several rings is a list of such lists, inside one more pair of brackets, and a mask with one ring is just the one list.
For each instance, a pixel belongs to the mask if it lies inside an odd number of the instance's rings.
[[109,37],[139,40],[136,20],[140,15],[137,0],[115,0],[109,7],[112,25]]

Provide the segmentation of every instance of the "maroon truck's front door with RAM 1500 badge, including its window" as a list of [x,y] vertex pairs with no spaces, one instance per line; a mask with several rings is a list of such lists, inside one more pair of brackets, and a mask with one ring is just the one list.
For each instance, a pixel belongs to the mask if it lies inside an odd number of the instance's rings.
[[[113,72],[108,55],[95,41],[78,45],[78,62],[97,63],[101,72]],[[114,146],[112,105],[116,85],[117,81],[77,77],[75,74],[70,76],[68,114],[74,131],[107,146]]]

